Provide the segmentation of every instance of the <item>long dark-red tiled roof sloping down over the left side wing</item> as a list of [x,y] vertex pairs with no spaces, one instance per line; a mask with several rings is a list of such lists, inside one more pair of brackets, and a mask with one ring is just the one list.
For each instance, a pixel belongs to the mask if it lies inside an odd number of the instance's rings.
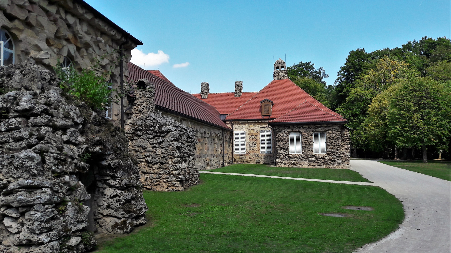
[[221,120],[221,113],[213,106],[180,90],[170,81],[156,77],[151,72],[148,72],[133,63],[127,63],[127,67],[129,70],[129,76],[127,77],[128,82],[134,83],[145,78],[155,86],[154,102],[156,106],[181,113],[216,127],[230,129],[230,127]]

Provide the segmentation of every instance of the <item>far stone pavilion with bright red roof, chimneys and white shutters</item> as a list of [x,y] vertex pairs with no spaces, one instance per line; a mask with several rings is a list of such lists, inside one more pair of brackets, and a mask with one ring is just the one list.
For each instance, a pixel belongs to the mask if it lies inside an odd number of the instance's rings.
[[325,107],[288,79],[285,62],[274,63],[274,80],[258,92],[193,94],[211,104],[234,131],[233,163],[276,166],[349,167],[349,129],[338,113]]

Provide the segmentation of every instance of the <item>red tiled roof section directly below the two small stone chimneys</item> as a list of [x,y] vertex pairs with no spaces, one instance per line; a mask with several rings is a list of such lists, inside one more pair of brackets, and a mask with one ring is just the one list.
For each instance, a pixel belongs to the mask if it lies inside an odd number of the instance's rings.
[[200,93],[191,94],[205,103],[211,104],[221,114],[230,114],[246,103],[258,92],[243,92],[240,97],[235,97],[235,92],[210,93],[206,99],[202,99]]

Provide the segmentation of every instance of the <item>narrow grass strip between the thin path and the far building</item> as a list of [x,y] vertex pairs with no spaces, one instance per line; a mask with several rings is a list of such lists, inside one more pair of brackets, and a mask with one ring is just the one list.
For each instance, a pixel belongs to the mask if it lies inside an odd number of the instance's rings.
[[370,182],[358,172],[348,169],[274,167],[264,164],[232,164],[208,170],[213,172],[258,174],[267,176],[288,176],[339,181]]

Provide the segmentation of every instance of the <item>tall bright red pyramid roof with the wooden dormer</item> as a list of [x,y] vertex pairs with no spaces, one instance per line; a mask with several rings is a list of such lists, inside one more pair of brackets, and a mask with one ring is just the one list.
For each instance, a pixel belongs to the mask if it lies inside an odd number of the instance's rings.
[[[321,109],[325,113],[324,117],[328,117],[327,115],[333,115],[343,118],[340,114],[335,113],[318,102],[318,100],[308,95],[307,92],[299,88],[299,86],[297,86],[290,79],[280,79],[270,82],[246,103],[227,115],[226,120],[262,119],[260,101],[263,99],[270,99],[274,103],[272,106],[272,115],[270,119],[275,119],[285,115],[294,108],[298,107],[299,104],[302,104],[304,101],[308,101],[310,104]],[[325,120],[319,118],[318,121],[324,122]]]

